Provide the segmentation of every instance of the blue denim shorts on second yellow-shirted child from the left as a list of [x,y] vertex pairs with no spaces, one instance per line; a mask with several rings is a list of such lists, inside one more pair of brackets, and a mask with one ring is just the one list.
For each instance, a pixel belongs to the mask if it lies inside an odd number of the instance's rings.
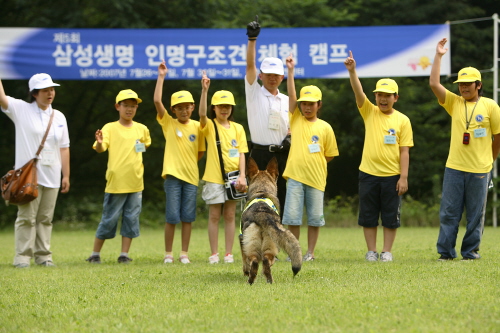
[[163,187],[167,198],[165,221],[170,224],[194,222],[198,186],[174,176],[167,176]]

